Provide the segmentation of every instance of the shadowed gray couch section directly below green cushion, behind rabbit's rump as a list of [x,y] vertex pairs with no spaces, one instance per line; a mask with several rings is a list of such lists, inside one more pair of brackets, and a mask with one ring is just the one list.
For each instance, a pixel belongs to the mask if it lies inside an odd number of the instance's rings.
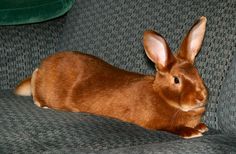
[[33,25],[0,26],[0,89],[15,87],[41,59],[55,52],[64,18]]

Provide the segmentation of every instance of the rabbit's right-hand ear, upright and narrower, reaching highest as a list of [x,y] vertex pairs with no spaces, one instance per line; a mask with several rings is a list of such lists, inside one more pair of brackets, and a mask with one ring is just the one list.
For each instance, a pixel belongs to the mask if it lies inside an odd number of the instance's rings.
[[185,36],[177,56],[194,63],[206,31],[206,17],[199,18]]

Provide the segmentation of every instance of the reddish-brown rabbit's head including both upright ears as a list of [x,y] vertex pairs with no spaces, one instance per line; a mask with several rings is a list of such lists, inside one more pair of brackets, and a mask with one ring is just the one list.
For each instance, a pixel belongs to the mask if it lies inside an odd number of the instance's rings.
[[206,18],[198,19],[185,36],[175,55],[166,40],[155,31],[145,31],[143,45],[149,59],[155,63],[156,77],[153,88],[169,105],[182,111],[204,108],[207,90],[194,66],[200,51]]

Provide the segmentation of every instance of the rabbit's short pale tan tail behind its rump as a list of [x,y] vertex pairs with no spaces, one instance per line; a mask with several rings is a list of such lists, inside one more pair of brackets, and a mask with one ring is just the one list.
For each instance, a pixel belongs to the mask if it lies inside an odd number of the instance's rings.
[[21,81],[15,88],[15,94],[20,96],[31,96],[31,77]]

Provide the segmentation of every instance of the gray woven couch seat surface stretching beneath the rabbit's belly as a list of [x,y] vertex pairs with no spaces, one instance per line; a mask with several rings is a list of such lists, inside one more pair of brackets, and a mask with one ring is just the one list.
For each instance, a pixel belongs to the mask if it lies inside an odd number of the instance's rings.
[[0,132],[1,153],[88,153],[152,144],[203,144],[218,134],[210,130],[203,140],[184,140],[111,118],[42,109],[33,104],[31,97],[15,96],[11,91],[0,91]]

